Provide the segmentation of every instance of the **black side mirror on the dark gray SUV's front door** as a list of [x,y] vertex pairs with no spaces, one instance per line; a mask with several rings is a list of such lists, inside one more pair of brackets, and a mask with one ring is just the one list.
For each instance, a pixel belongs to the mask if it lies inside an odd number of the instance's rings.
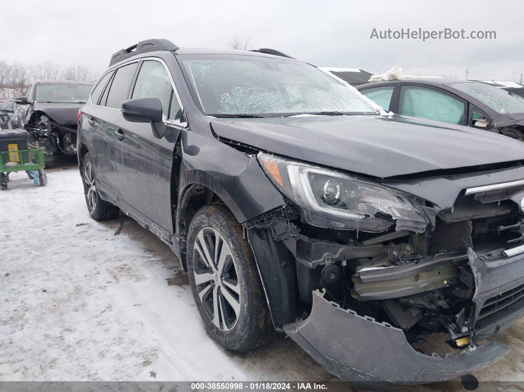
[[161,139],[167,127],[162,122],[162,103],[158,98],[133,98],[122,103],[122,115],[130,122],[150,122],[153,135]]

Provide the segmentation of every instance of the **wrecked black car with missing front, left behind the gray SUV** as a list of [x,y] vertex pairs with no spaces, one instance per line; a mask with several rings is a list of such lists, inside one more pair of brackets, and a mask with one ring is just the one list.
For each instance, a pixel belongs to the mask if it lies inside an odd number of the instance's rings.
[[21,105],[23,125],[45,149],[46,162],[56,154],[77,153],[77,114],[89,96],[93,84],[79,82],[38,82],[29,85]]

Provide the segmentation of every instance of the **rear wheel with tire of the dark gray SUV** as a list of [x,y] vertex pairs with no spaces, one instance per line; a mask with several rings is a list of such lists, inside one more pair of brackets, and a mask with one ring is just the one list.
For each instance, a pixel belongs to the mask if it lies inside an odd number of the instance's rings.
[[[86,174],[86,170],[91,170],[91,172]],[[116,218],[118,216],[119,208],[114,204],[103,200],[96,189],[96,174],[89,152],[84,155],[84,159],[82,161],[82,170],[80,173],[82,176],[82,183],[84,184],[85,204],[88,206],[88,211],[89,215],[91,215],[91,218],[96,221]],[[86,178],[86,176],[92,177]],[[94,188],[89,184],[91,181],[94,184]],[[89,196],[88,191],[90,191]]]

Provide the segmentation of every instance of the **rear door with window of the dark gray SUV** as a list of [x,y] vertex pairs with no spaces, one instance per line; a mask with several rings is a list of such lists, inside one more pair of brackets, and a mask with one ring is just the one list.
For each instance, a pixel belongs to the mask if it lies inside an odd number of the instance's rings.
[[[98,104],[93,105],[87,113],[88,127],[91,130],[90,151],[99,190],[111,192],[112,196],[117,197],[120,195],[120,190],[114,156],[114,126],[122,114],[120,107],[128,97],[137,67],[138,62],[134,62],[106,73],[93,89],[92,99],[100,96]],[[103,79],[105,85],[102,85]]]

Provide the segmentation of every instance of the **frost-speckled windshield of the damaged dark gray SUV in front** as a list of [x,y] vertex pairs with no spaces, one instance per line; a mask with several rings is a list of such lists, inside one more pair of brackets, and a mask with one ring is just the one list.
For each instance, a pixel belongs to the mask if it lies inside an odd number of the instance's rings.
[[309,64],[231,55],[182,63],[207,114],[376,114],[360,94]]

